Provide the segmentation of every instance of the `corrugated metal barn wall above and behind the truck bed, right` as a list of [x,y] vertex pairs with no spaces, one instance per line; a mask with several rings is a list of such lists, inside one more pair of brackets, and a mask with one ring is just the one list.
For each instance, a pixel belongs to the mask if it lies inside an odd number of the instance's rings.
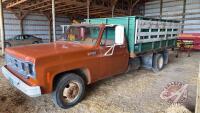
[[[162,7],[162,8],[161,8]],[[177,19],[183,21],[184,33],[200,32],[200,0],[153,0],[145,3],[145,16],[163,19]]]

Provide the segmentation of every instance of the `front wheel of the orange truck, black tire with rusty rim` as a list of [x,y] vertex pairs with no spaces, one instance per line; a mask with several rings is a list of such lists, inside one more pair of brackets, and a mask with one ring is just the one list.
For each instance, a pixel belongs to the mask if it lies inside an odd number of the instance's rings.
[[62,77],[52,93],[54,104],[67,109],[79,103],[85,94],[85,83],[76,74],[66,74]]

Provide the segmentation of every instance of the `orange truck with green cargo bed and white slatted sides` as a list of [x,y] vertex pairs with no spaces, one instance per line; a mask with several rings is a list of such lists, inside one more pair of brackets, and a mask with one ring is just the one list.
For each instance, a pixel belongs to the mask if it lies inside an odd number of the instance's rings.
[[177,21],[136,16],[86,21],[68,25],[61,41],[6,48],[3,75],[30,97],[51,93],[66,109],[88,84],[139,67],[163,69],[180,31]]

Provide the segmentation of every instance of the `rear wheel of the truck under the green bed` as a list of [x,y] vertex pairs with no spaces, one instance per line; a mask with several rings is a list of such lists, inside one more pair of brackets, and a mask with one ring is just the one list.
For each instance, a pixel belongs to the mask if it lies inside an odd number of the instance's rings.
[[153,71],[158,72],[164,67],[164,56],[163,54],[155,54],[153,56]]

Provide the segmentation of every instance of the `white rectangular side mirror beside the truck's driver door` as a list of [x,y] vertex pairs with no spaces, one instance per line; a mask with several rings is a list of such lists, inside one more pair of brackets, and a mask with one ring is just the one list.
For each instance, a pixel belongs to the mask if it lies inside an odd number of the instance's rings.
[[124,44],[124,26],[115,27],[115,44],[116,45]]

